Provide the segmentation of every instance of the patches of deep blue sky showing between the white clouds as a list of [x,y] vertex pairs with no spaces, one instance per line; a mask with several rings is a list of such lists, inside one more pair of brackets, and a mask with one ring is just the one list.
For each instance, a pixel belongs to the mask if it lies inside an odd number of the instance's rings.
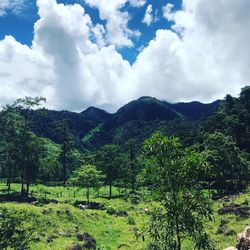
[[[11,35],[15,39],[22,43],[31,46],[34,36],[34,23],[39,19],[37,14],[37,6],[35,0],[23,0],[25,6],[22,7],[20,12],[14,13],[12,10],[6,11],[6,15],[0,17],[0,39],[3,39],[6,35]],[[108,4],[107,0],[107,4]],[[105,24],[105,20],[100,19],[99,11],[95,7],[90,7],[84,0],[58,0],[58,3],[63,4],[81,4],[86,13],[91,16],[94,24]],[[181,0],[147,0],[146,4],[141,8],[131,7],[129,3],[126,3],[122,8],[122,11],[127,11],[130,14],[130,20],[128,27],[132,30],[139,30],[141,36],[133,39],[133,47],[117,48],[117,51],[122,54],[123,58],[128,60],[131,64],[136,60],[136,57],[142,47],[154,38],[155,32],[158,29],[170,28],[172,22],[162,18],[162,8],[166,4],[171,3],[174,5],[174,10],[181,8]],[[153,7],[152,14],[155,16],[155,20],[150,26],[142,23],[147,6],[151,4]]]

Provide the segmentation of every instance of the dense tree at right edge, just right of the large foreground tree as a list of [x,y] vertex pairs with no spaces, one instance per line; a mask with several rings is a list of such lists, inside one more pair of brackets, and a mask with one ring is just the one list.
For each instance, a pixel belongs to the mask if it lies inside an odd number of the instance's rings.
[[229,135],[219,131],[205,136],[207,160],[213,166],[214,188],[219,193],[235,193],[248,186],[250,163]]

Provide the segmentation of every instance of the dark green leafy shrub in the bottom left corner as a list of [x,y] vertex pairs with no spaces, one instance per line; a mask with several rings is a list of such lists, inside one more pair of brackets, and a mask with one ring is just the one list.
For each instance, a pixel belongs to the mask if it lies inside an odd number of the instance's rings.
[[29,249],[29,235],[14,212],[0,208],[0,249]]

